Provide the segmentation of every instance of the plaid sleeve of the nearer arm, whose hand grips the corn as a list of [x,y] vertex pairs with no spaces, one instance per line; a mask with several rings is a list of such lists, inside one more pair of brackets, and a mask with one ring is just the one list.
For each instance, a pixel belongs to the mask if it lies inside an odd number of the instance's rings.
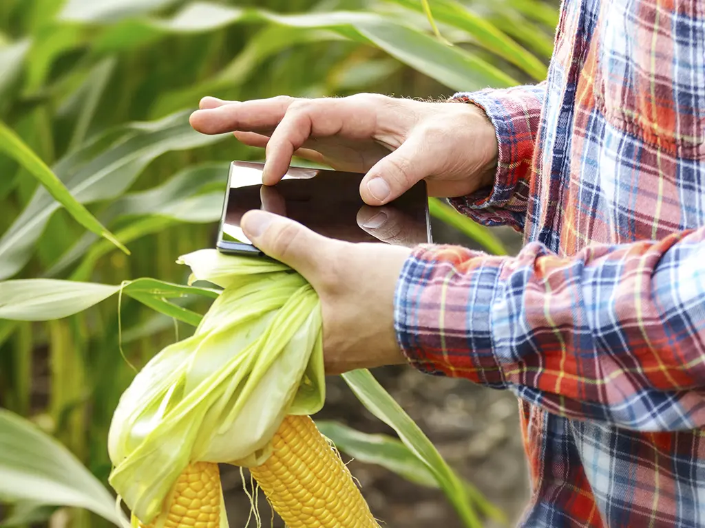
[[412,365],[551,413],[642,431],[705,426],[705,229],[561,258],[419,246],[396,292]]

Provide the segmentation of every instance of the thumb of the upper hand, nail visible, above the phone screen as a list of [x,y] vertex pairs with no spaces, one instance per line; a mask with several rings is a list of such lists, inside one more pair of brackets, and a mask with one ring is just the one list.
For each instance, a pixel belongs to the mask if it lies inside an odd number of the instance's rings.
[[365,203],[384,205],[430,176],[438,160],[431,155],[427,142],[422,134],[412,135],[396,151],[375,163],[360,184]]

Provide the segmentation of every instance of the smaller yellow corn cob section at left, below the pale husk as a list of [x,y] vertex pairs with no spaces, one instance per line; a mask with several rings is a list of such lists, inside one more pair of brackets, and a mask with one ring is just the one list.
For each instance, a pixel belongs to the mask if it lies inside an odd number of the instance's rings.
[[[218,465],[209,462],[188,465],[167,500],[164,528],[219,528],[221,484]],[[140,528],[155,528],[155,524],[140,522]]]

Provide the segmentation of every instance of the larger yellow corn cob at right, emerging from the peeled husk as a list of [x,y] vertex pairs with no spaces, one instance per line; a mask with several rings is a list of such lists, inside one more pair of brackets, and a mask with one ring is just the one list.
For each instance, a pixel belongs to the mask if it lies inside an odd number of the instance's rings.
[[250,468],[288,527],[373,528],[348,467],[308,416],[287,416],[266,462]]

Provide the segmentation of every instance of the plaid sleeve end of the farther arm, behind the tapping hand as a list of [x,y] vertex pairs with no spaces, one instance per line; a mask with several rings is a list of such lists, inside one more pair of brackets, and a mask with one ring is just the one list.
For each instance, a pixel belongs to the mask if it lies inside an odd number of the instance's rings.
[[455,101],[473,103],[484,110],[494,125],[499,146],[494,185],[449,200],[460,213],[484,225],[524,229],[529,174],[545,92],[546,83],[541,82],[453,96]]

